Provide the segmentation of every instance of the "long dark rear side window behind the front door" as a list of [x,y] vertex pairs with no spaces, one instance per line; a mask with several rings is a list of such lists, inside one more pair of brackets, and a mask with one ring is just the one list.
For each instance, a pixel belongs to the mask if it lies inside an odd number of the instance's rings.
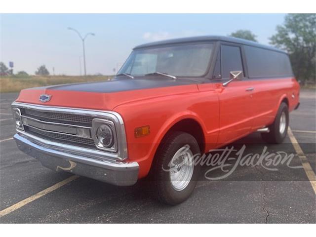
[[264,48],[244,46],[249,78],[293,76],[291,63],[285,53]]

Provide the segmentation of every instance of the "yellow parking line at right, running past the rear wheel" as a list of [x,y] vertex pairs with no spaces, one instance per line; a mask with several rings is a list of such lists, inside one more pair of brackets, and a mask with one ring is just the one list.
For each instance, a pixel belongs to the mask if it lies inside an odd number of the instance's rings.
[[296,138],[294,137],[293,132],[290,127],[288,127],[287,133],[298,157],[301,159],[305,173],[308,179],[310,180],[312,187],[314,189],[314,192],[316,194],[316,175],[314,173],[314,170],[312,169],[311,164],[308,162],[308,159],[306,158],[302,148],[300,147],[300,144],[297,142]]

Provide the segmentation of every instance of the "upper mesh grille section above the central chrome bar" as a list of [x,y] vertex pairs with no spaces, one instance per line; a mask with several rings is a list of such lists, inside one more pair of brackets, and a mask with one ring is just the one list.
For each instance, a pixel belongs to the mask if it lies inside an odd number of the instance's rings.
[[24,114],[29,117],[44,118],[44,120],[46,121],[51,121],[53,119],[53,120],[59,120],[62,122],[70,121],[70,122],[79,122],[79,123],[87,123],[87,124],[91,124],[92,119],[93,119],[93,117],[89,117],[89,116],[44,112],[44,111],[36,111],[36,110],[30,110],[30,109],[24,109]]

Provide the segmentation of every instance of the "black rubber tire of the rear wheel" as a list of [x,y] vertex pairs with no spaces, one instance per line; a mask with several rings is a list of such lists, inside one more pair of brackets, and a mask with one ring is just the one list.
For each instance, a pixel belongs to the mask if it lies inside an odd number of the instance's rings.
[[[280,132],[280,118],[283,113],[285,114],[286,125],[285,125],[284,132],[281,133]],[[261,133],[262,139],[269,144],[282,143],[287,134],[288,124],[289,124],[288,107],[286,103],[282,102],[280,107],[278,108],[274,122],[269,126],[270,132]]]

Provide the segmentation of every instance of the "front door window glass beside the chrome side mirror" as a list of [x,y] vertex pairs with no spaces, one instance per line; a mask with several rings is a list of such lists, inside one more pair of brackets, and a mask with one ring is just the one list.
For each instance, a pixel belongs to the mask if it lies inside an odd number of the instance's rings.
[[240,47],[222,45],[221,46],[221,58],[222,58],[222,78],[228,79],[230,72],[242,71],[242,60]]

